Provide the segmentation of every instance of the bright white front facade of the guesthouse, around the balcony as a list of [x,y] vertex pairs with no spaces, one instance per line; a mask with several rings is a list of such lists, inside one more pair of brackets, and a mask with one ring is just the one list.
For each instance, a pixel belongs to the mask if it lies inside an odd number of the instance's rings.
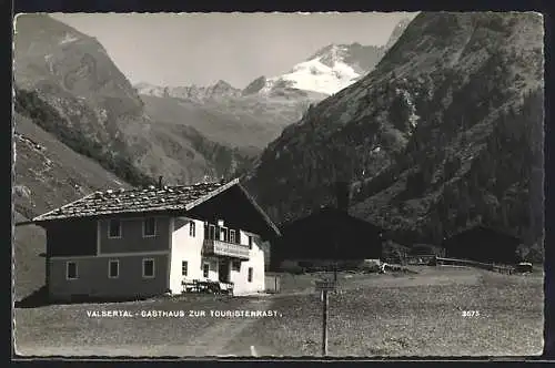
[[[194,232],[191,229],[192,224],[194,224]],[[222,223],[219,225],[224,226]],[[240,231],[240,245],[244,246],[245,249],[250,248],[249,259],[240,260],[239,258],[203,254],[203,221],[175,217],[171,222],[170,231],[170,289],[172,294],[182,293],[183,280],[192,282],[195,279],[231,282],[234,284],[234,295],[264,290],[264,253],[259,245],[258,235]],[[223,234],[220,235],[220,239],[223,241]],[[249,236],[252,239],[251,247],[249,247]],[[233,243],[233,245],[239,244]],[[185,273],[186,275],[184,275]],[[252,274],[251,278],[249,278],[249,273]]]

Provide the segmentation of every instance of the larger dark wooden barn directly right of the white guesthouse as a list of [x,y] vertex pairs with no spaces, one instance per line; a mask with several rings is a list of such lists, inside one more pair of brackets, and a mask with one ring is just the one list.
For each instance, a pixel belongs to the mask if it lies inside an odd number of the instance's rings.
[[324,207],[283,226],[272,265],[287,259],[354,260],[382,256],[382,229],[346,212]]

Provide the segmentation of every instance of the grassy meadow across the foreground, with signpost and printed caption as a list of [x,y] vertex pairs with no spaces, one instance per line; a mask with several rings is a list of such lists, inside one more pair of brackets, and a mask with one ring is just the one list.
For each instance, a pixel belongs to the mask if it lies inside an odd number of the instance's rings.
[[[515,356],[543,349],[543,274],[452,267],[417,273],[340,273],[330,295],[329,355],[337,357]],[[17,308],[21,355],[320,356],[322,303],[313,280],[283,275],[282,293],[186,296],[117,304]],[[88,317],[119,309],[196,310],[182,318]],[[275,310],[274,317],[213,317],[210,310]],[[465,317],[463,311],[474,310]],[[477,313],[477,315],[476,315]]]

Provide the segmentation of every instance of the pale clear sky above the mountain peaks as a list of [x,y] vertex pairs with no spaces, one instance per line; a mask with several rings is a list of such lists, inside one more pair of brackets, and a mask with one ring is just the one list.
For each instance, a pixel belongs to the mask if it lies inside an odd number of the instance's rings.
[[54,13],[95,37],[134,84],[245,88],[331,43],[384,44],[415,13]]

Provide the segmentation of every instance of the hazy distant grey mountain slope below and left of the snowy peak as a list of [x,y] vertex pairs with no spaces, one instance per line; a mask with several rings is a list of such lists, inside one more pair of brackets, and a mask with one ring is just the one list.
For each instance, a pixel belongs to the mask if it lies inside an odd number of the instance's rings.
[[[225,85],[226,88],[222,88]],[[215,142],[258,154],[299,120],[311,103],[326,95],[296,89],[262,95],[239,90],[224,81],[209,86],[134,86],[148,116],[157,121],[188,124]],[[246,92],[245,92],[246,91]]]

